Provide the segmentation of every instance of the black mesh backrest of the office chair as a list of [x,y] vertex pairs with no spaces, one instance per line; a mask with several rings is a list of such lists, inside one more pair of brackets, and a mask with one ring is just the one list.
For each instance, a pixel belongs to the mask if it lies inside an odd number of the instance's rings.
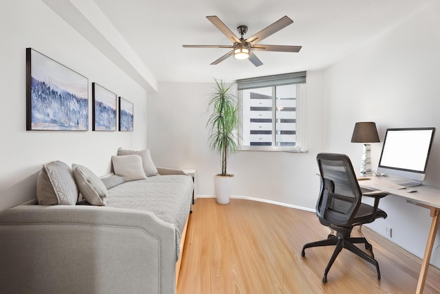
[[340,225],[349,223],[362,196],[349,157],[320,153],[316,160],[321,175],[320,199],[316,207],[318,215]]

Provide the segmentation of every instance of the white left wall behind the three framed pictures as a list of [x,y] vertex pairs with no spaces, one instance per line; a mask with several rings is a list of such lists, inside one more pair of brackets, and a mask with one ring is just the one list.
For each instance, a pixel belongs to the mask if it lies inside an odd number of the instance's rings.
[[[118,147],[146,147],[146,91],[41,1],[3,1],[0,10],[0,211],[35,193],[43,163],[80,163],[110,172]],[[89,130],[25,131],[25,48],[89,78]],[[134,103],[133,133],[91,131],[91,82]]]

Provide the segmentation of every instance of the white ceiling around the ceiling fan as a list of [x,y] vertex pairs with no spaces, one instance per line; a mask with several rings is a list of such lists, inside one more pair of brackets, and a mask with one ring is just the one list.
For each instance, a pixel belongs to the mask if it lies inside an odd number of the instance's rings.
[[[159,81],[212,82],[323,69],[391,30],[434,0],[94,0]],[[256,52],[263,62],[228,58],[230,49],[181,45],[230,45],[206,16],[217,15],[236,33],[252,36],[282,16],[292,25],[262,43],[302,45],[299,53]],[[238,33],[237,33],[238,34]]]

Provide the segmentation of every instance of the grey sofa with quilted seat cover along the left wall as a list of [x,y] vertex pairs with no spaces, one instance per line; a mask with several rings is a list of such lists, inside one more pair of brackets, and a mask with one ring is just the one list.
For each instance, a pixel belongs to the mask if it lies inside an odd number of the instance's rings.
[[35,199],[0,212],[0,292],[175,293],[193,183],[157,170],[108,178],[107,206]]

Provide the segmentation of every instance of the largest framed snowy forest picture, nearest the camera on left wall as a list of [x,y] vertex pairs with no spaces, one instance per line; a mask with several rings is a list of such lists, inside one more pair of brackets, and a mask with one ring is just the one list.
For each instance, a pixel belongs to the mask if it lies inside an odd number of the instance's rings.
[[26,48],[26,129],[87,131],[89,80]]

